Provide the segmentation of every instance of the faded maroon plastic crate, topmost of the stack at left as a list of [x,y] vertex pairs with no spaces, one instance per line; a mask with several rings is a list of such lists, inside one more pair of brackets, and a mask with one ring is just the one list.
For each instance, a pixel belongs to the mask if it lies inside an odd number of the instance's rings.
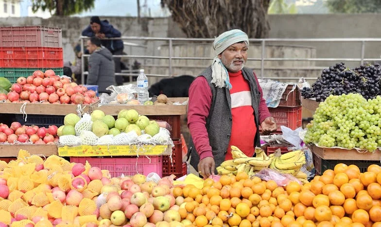
[[0,27],[0,47],[62,48],[62,30],[42,26]]

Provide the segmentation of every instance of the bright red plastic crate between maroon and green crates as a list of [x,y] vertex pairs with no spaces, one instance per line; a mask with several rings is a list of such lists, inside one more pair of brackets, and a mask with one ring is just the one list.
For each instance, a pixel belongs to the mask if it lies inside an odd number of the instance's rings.
[[62,48],[2,47],[2,68],[59,68],[64,66]]

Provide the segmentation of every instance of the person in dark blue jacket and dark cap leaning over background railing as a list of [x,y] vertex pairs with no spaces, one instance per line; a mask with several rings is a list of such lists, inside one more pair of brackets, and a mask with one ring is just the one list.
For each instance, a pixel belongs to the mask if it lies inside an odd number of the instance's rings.
[[[102,20],[99,16],[91,16],[90,25],[82,31],[83,36],[103,38],[121,37],[121,32],[115,29],[107,20]],[[123,54],[123,41],[121,39],[103,39],[102,46],[110,50],[113,55]],[[121,72],[121,58],[114,57],[115,72]],[[115,76],[117,85],[123,84],[121,76]]]

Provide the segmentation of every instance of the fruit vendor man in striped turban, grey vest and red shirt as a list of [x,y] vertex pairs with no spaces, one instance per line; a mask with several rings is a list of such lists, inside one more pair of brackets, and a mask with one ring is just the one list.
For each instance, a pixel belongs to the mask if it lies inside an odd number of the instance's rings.
[[249,40],[235,29],[215,38],[212,65],[191,84],[188,127],[191,165],[207,178],[216,166],[232,159],[230,146],[253,157],[264,132],[277,130],[252,69],[244,67]]

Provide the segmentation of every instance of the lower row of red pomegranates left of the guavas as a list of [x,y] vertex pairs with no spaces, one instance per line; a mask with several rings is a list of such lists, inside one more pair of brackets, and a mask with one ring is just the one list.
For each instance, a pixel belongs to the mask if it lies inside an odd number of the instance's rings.
[[55,125],[39,128],[36,125],[21,125],[15,121],[8,127],[0,123],[0,143],[13,144],[18,141],[19,143],[54,144],[58,141],[57,130],[58,127]]

